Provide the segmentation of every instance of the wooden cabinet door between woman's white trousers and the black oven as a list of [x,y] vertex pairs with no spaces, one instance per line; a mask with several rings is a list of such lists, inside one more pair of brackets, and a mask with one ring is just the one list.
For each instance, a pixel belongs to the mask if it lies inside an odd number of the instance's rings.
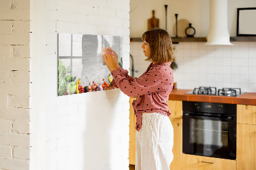
[[170,170],[181,169],[182,155],[182,119],[170,118],[173,126],[173,160]]

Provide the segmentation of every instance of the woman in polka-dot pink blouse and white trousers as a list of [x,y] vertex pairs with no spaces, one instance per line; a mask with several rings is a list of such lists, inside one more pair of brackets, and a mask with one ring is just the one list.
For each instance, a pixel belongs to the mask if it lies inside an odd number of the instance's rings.
[[114,78],[111,86],[118,86],[129,97],[137,97],[132,102],[137,130],[136,169],[165,170],[170,169],[173,160],[173,127],[167,105],[173,87],[172,40],[163,29],[146,31],[142,40],[145,61],[152,63],[138,78],[132,78],[118,65],[115,51],[109,49],[103,57]]

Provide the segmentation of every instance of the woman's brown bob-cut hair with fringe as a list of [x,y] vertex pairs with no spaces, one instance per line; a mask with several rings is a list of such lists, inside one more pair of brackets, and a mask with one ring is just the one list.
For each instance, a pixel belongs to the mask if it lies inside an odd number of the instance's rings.
[[145,61],[166,63],[175,61],[173,56],[172,39],[164,29],[152,29],[142,35],[142,40],[150,46],[150,56]]

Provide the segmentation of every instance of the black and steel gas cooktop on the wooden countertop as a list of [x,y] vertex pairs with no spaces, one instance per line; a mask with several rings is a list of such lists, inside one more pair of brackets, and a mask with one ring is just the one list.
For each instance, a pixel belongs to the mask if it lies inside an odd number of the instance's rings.
[[226,96],[226,97],[237,97],[242,95],[241,88],[222,88],[218,89],[215,87],[199,87],[195,88],[193,91],[188,91],[186,94],[193,95],[216,95],[216,96]]

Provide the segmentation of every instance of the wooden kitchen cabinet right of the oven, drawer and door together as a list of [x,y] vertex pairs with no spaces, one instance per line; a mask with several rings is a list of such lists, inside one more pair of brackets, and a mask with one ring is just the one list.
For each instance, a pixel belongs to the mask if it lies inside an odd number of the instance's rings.
[[256,169],[256,105],[237,105],[237,170]]

